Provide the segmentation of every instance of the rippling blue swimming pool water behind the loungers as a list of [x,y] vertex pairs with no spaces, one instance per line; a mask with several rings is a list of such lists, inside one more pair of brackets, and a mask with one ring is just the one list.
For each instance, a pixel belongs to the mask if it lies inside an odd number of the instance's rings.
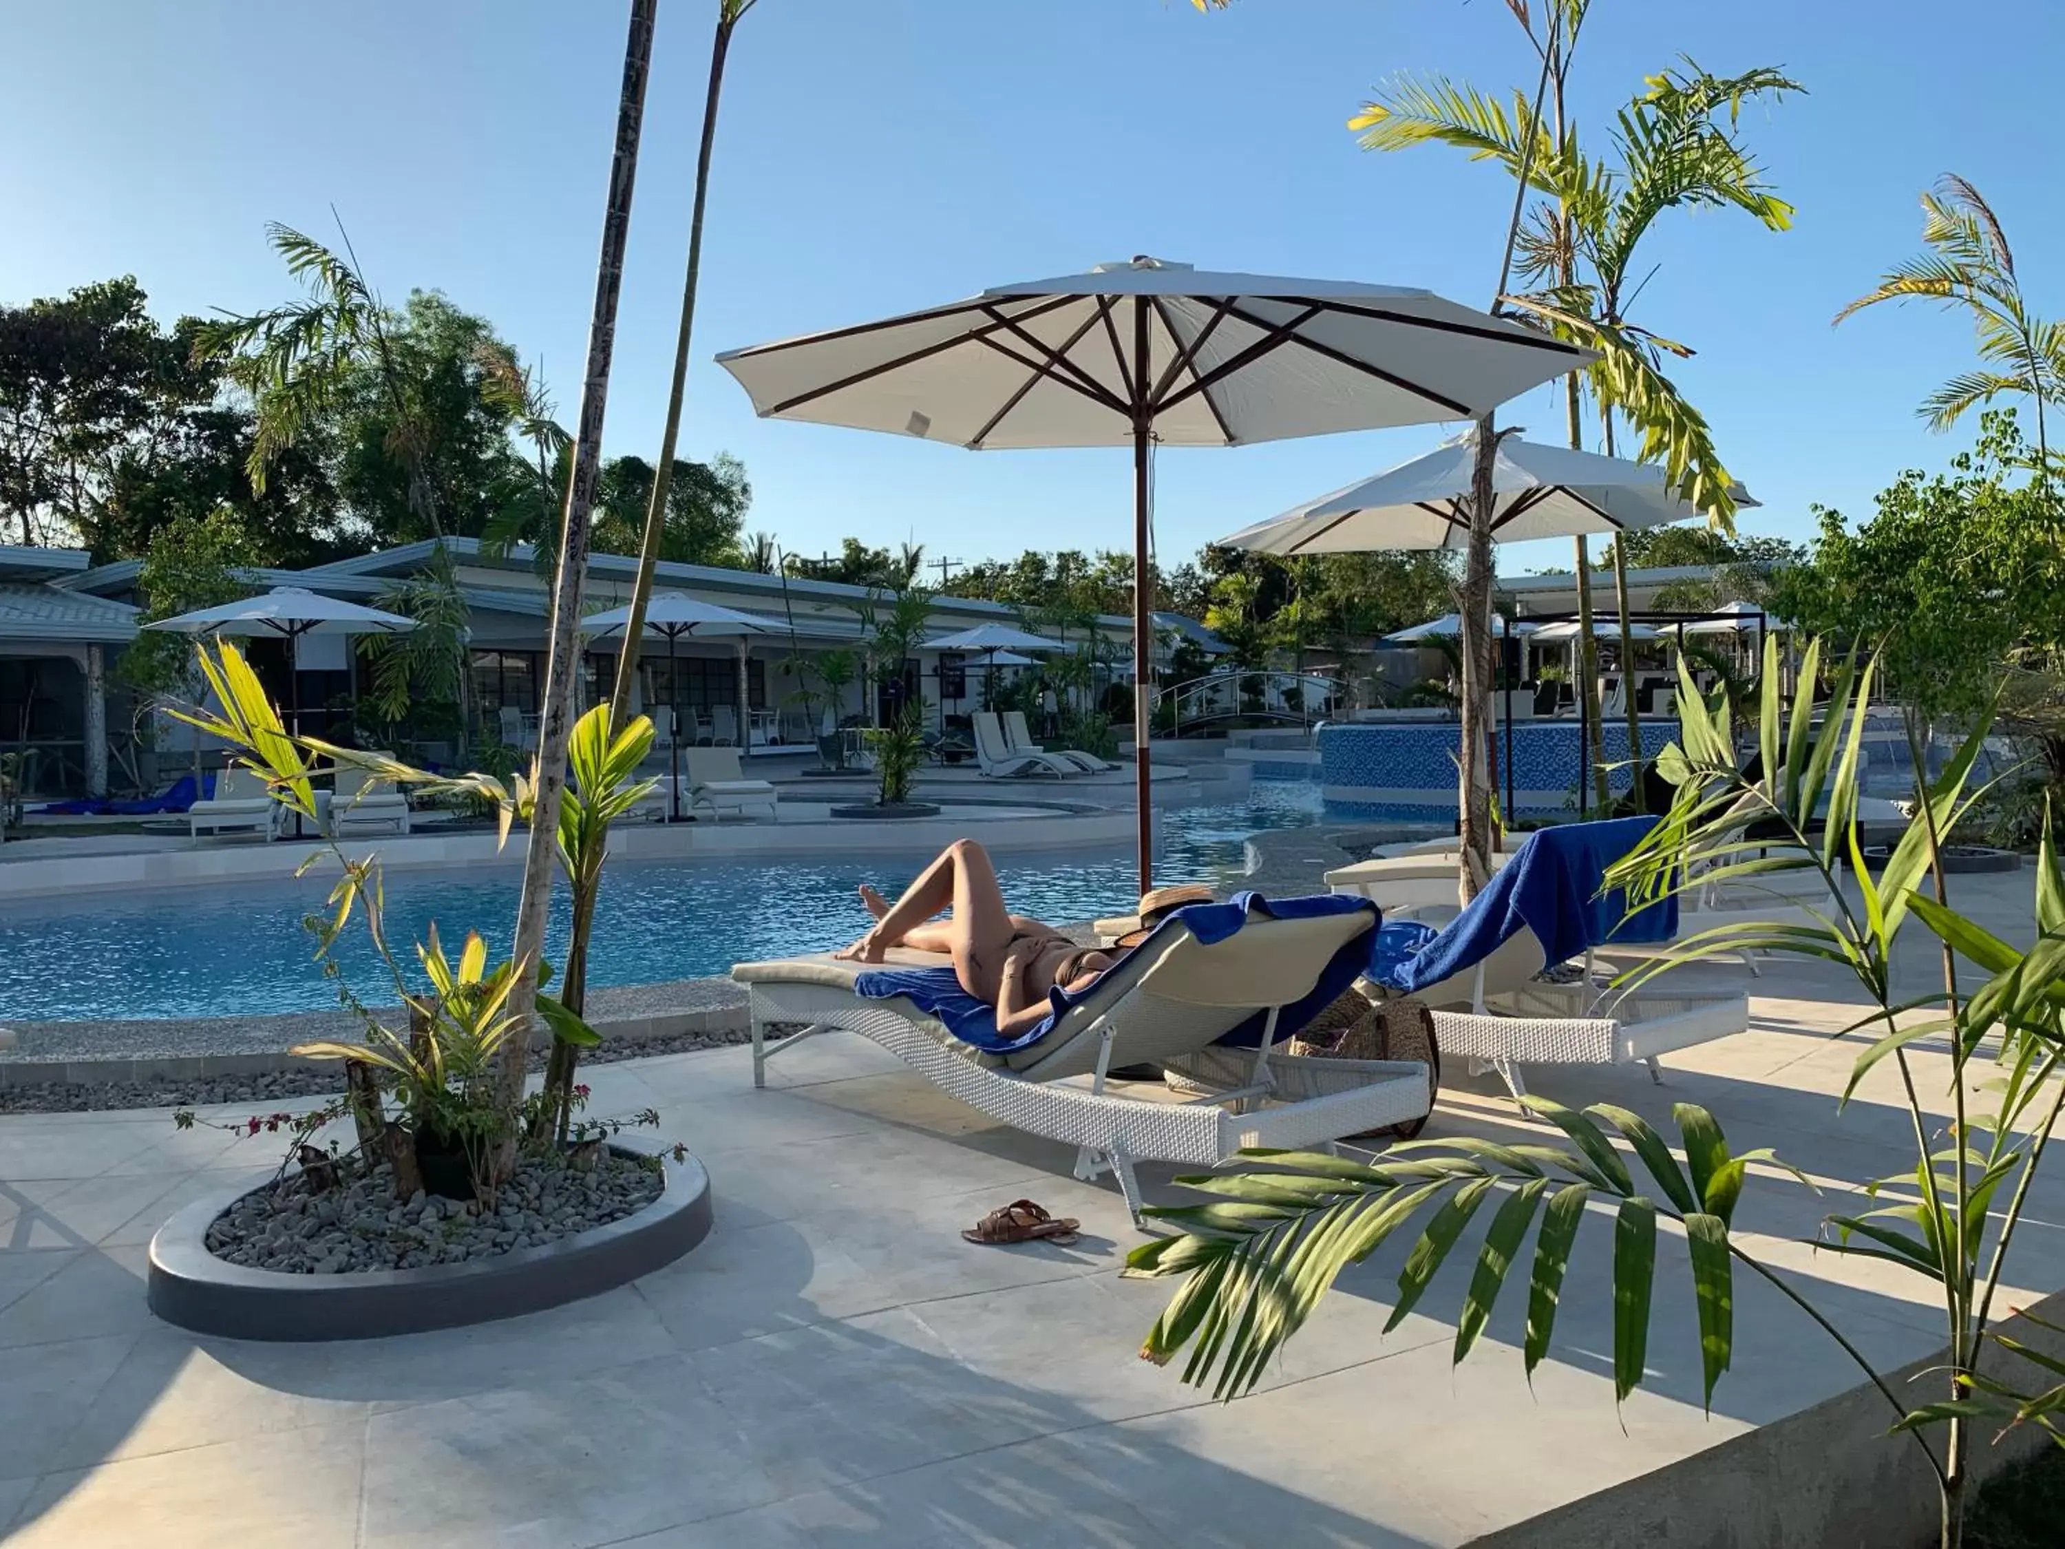
[[[1320,812],[1317,789],[1303,783],[1260,783],[1241,805],[1165,812],[1156,880],[1233,882],[1247,834],[1301,828]],[[597,907],[589,983],[696,979],[733,962],[843,946],[867,925],[855,888],[873,882],[894,896],[925,859],[613,863]],[[1121,913],[1134,888],[1130,847],[999,855],[997,867],[1012,909],[1037,919]],[[514,865],[394,872],[390,940],[409,952],[436,921],[448,950],[456,952],[469,929],[506,950],[516,882]],[[312,876],[8,905],[0,909],[0,1022],[335,1010],[337,987],[312,962],[314,942],[301,927],[328,886]],[[551,960],[564,952],[566,923],[562,888],[547,936]],[[394,1002],[361,925],[349,931],[339,962],[370,1004]]]

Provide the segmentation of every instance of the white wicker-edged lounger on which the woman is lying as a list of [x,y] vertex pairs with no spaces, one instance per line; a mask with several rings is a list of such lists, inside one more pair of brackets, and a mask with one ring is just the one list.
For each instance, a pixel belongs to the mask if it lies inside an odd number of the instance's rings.
[[[1249,909],[1204,905],[1204,909]],[[1357,1082],[1317,1097],[1299,1093],[1299,1060],[1270,1066],[1270,1051],[1332,1000],[1340,960],[1367,958],[1375,913],[1357,909],[1303,919],[1247,915],[1231,936],[1202,942],[1179,911],[1055,1016],[1035,1043],[985,1053],[907,998],[867,1000],[855,981],[869,973],[830,956],[741,962],[731,977],[752,991],[754,1084],[766,1062],[816,1033],[845,1029],[894,1053],[942,1090],[1026,1134],[1076,1146],[1076,1177],[1115,1173],[1140,1223],[1138,1161],[1212,1167],[1243,1146],[1326,1146],[1346,1136],[1406,1124],[1431,1107],[1427,1066],[1361,1062]],[[890,954],[892,969],[940,967],[944,956]],[[1284,1014],[1291,1008],[1291,1014]],[[1138,1062],[1198,1055],[1247,1022],[1262,1022],[1243,1080],[1204,1088],[1194,1101],[1150,1101],[1109,1090],[1107,1074]],[[770,1045],[770,1022],[805,1031]],[[1220,1055],[1247,1051],[1216,1049]],[[1332,1062],[1328,1062],[1332,1064]],[[1189,1086],[1185,1086],[1187,1090]]]

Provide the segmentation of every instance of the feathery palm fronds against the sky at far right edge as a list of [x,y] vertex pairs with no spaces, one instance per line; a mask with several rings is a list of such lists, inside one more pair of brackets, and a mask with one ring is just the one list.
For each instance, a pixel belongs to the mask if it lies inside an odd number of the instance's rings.
[[1902,258],[1867,295],[1836,314],[1842,322],[1879,302],[1941,302],[1964,308],[1978,328],[1976,372],[1960,372],[1923,399],[1931,430],[1949,430],[1976,403],[2022,392],[2036,405],[2036,467],[2051,467],[2044,403],[2065,401],[2065,322],[2030,312],[1993,207],[1958,173],[1943,173],[1923,194],[1923,242],[1929,252]]

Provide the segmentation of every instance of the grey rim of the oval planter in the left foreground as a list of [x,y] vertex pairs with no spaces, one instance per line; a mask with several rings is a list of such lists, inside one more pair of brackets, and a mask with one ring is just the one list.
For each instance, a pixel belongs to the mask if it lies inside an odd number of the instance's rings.
[[[655,1155],[624,1140],[613,1148]],[[665,1169],[667,1186],[653,1204],[574,1237],[465,1264],[357,1274],[283,1274],[217,1258],[209,1225],[252,1192],[225,1190],[157,1229],[151,1311],[196,1334],[258,1340],[378,1338],[543,1311],[650,1274],[710,1235],[702,1163],[669,1159]]]

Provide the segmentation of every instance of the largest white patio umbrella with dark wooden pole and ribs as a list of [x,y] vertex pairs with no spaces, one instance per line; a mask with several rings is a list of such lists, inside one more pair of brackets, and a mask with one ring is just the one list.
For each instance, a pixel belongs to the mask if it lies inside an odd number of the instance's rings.
[[1146,892],[1150,446],[1474,419],[1590,355],[1431,291],[1134,258],[717,359],[768,417],[975,450],[1134,448],[1134,754]]

